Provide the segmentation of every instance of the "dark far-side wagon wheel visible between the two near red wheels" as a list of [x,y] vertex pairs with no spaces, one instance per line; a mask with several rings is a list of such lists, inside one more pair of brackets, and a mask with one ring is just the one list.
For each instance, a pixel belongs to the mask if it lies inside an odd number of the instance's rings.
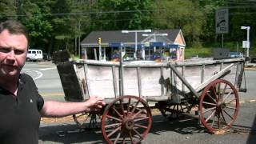
[[158,102],[157,106],[161,114],[169,120],[183,118],[184,113],[188,113],[192,108],[192,106],[188,102],[182,102],[178,104]]

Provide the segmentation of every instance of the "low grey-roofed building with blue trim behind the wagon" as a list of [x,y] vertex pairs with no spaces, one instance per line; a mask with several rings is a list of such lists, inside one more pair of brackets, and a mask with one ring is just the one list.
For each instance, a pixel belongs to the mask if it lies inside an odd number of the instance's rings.
[[[186,42],[182,30],[151,30],[149,33],[123,33],[122,30],[93,31],[81,42],[82,58],[107,59],[112,58],[115,50],[122,46],[128,58],[151,59],[161,51],[167,54],[169,60],[184,59]],[[136,46],[137,44],[137,46]]]

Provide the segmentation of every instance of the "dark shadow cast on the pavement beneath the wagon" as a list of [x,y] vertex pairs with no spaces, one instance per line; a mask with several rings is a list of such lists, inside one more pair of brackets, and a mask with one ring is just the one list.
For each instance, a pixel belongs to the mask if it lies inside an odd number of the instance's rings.
[[[162,115],[154,115],[150,134],[160,135],[166,131],[174,131],[179,134],[197,134],[204,133],[205,129],[199,126],[197,118],[186,116],[180,120],[169,121]],[[100,129],[81,130],[74,124],[40,127],[39,140],[41,143],[104,143]]]

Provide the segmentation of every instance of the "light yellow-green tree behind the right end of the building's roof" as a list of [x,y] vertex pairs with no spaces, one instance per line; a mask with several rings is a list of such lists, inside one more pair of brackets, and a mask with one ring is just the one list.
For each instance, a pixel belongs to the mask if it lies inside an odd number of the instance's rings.
[[198,2],[191,0],[159,0],[155,2],[154,27],[158,29],[182,29],[186,42],[200,44],[206,17]]

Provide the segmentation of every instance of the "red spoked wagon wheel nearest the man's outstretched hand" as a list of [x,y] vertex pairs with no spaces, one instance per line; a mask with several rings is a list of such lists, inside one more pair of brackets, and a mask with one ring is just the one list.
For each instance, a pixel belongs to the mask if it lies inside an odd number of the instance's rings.
[[111,102],[102,115],[102,134],[108,143],[138,143],[149,133],[150,107],[135,96],[122,96]]

